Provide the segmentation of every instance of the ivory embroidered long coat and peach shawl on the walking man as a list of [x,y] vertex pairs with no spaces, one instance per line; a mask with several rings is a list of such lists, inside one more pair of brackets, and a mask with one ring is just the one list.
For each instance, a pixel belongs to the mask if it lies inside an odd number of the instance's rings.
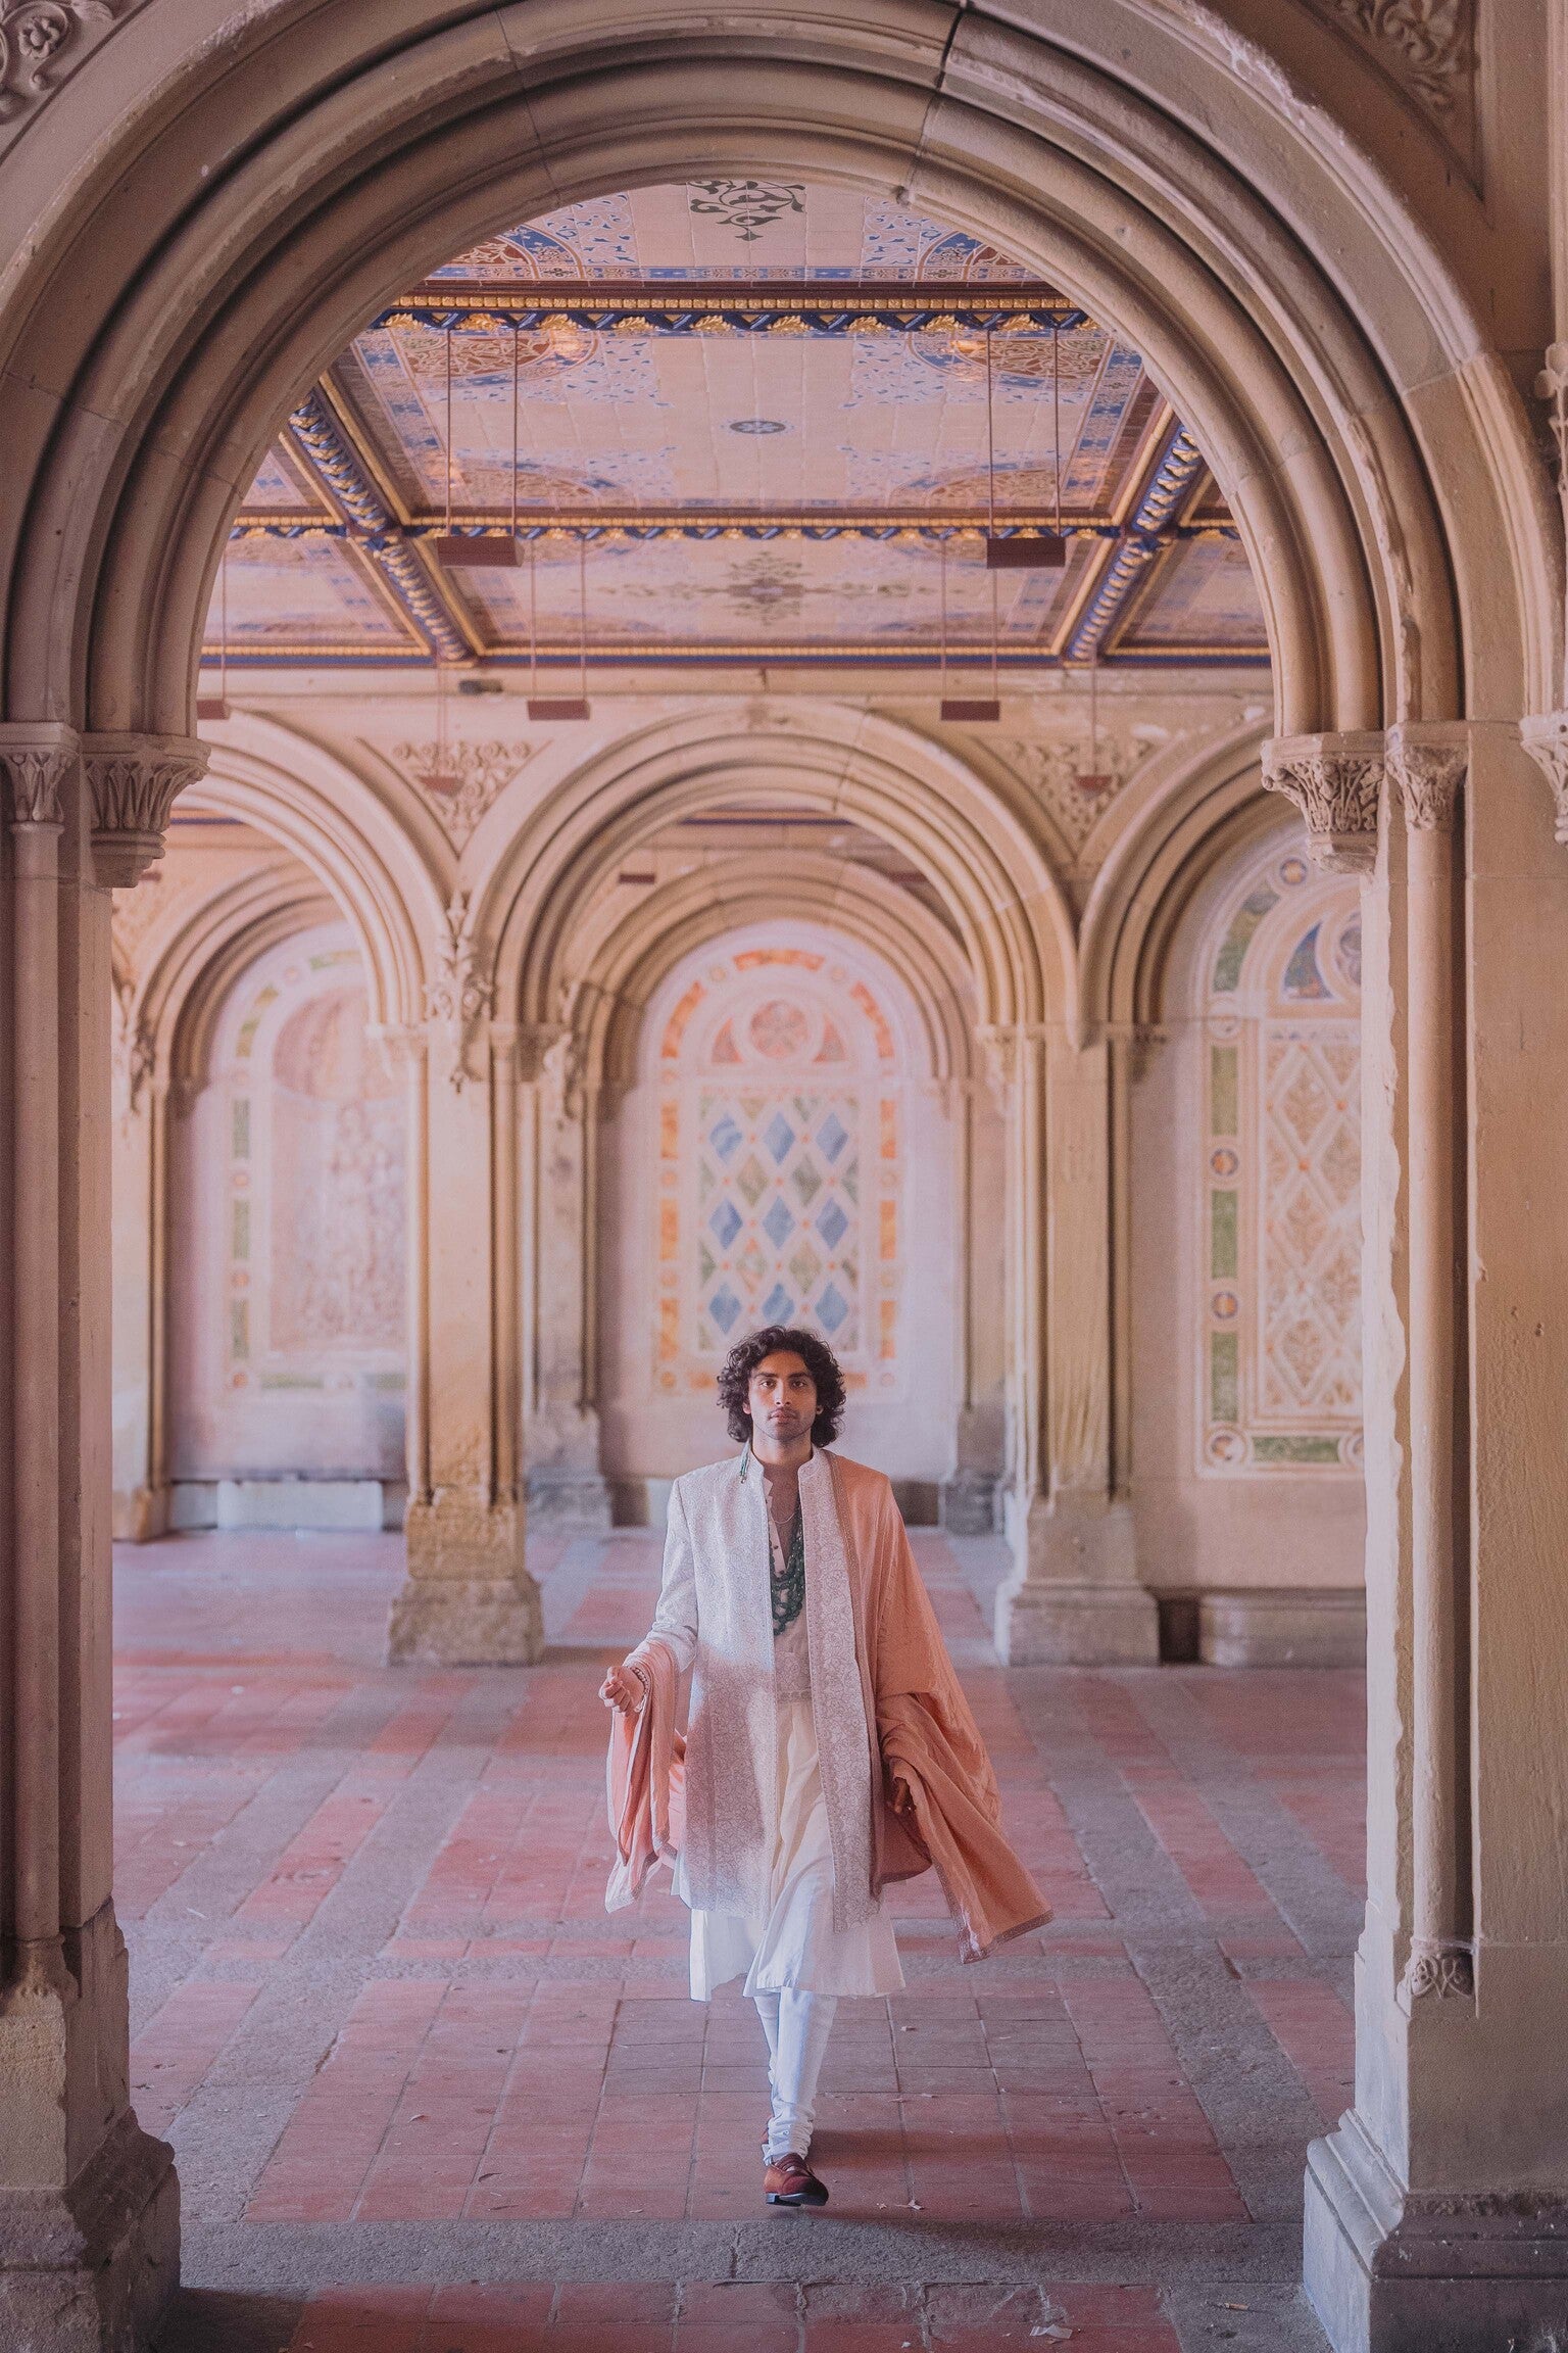
[[[830,1934],[886,1929],[884,1885],[936,1866],[961,1951],[978,1958],[1044,1922],[1048,1908],[1001,1835],[997,1779],[891,1485],[818,1449],[799,1473],[799,1508]],[[766,1920],[788,1812],[780,1727],[790,1729],[783,1718],[802,1704],[780,1708],[776,1694],[769,1511],[750,1454],[675,1482],[658,1612],[628,1664],[642,1671],[649,1706],[639,1725],[611,1729],[621,1852],[611,1901],[630,1901],[656,1852],[672,1859],[679,1849],[677,1887],[693,1915]],[[672,1767],[682,1748],[672,1692],[686,1668],[684,1767]],[[693,1932],[693,1991],[696,1977]]]

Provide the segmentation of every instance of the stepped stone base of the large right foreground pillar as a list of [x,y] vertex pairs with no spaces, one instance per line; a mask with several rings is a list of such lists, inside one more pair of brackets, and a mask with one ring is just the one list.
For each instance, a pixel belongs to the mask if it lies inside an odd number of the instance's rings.
[[1544,2353],[1568,2315],[1568,2200],[1410,2198],[1352,2111],[1307,2151],[1305,2282],[1333,2353]]

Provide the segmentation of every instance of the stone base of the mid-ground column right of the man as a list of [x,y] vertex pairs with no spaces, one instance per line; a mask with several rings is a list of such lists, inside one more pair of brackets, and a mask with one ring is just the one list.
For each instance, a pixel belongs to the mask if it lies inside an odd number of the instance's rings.
[[997,1595],[1009,1666],[1159,1664],[1159,1607],[1138,1584],[1126,1504],[1037,1499],[1016,1546],[1023,1560]]

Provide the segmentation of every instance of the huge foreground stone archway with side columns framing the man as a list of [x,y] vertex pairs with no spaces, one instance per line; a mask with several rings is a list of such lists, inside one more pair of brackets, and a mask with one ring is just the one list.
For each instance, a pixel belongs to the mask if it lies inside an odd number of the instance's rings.
[[[47,176],[54,155],[61,167],[0,313],[9,376],[26,386],[0,525],[0,755],[19,1139],[7,1322],[24,1464],[7,1567],[12,1657],[28,1661],[7,1692],[16,1951],[0,2054],[24,2085],[7,2179],[33,2205],[45,2193],[73,2249],[45,2254],[54,2240],[38,2226],[5,2275],[24,2327],[63,2261],[82,2341],[99,2304],[113,2306],[103,2332],[125,2332],[155,2306],[155,2268],[167,2278],[172,2259],[167,2160],[125,2097],[106,1591],[80,1464],[106,1384],[94,1141],[108,1087],[106,887],[155,854],[169,800],[202,767],[190,682],[228,511],[324,355],[430,256],[611,172],[773,162],[907,188],[994,231],[1133,334],[1201,438],[1265,584],[1279,692],[1269,781],[1302,805],[1328,861],[1373,875],[1373,1904],[1359,2108],[1314,2158],[1309,2275],[1338,2344],[1373,2332],[1392,2344],[1392,2327],[1408,2337],[1420,2313],[1448,2315],[1441,2299],[1465,2294],[1479,2313],[1474,2282],[1523,2261],[1516,2214],[1544,2214],[1528,2238],[1535,2285],[1514,2306],[1549,2315],[1561,2148],[1526,2019],[1556,2005],[1568,1967],[1537,1868],[1561,1758],[1521,1692],[1530,1657],[1561,1649],[1547,1555],[1563,1471],[1528,1433],[1563,1365],[1544,1322],[1533,1353],[1519,1332],[1561,1271],[1535,1214],[1552,1160],[1519,1160],[1502,1139],[1528,1127],[1568,1061],[1507,904],[1528,887],[1547,920],[1563,899],[1516,741],[1519,718],[1556,699],[1559,567],[1519,402],[1460,287],[1371,165],[1253,71],[1253,52],[1218,21],[1154,24],[1138,0],[1074,28],[1074,47],[940,7],[872,12],[853,28],[795,19],[764,42],[635,9],[581,28],[569,12],[428,24],[411,5],[374,33],[346,24],[327,54],[327,35],[301,42],[280,12],[209,47],[205,26],[183,21],[174,68],[172,14],[174,0],[146,7],[45,115],[28,169],[42,158]],[[78,179],[89,136],[99,162]],[[193,153],[205,158],[195,202]],[[1469,929],[1455,913],[1460,791]],[[1027,932],[1004,892],[987,951]],[[548,1024],[552,1009],[524,1019]],[[1037,988],[997,1021],[1034,1155],[1053,1104],[1077,1118],[1084,1151],[1105,1132],[1105,1040],[1046,1071],[1041,1028],[1056,1019],[1063,1000]],[[1093,1153],[1084,1165],[1098,1186]],[[1037,1167],[1023,1179],[1018,1198]],[[1455,1280],[1460,1233],[1469,1271]],[[1048,1273],[1020,1266],[1020,1299],[1039,1301]],[[1079,1447],[1105,1445],[1067,1358],[1025,1417],[1034,1461],[1051,1459],[1044,1421],[1063,1398]],[[470,1485],[496,1497],[505,1464],[480,1440],[468,1457]],[[85,2200],[96,2238],[82,2252]],[[1446,2268],[1455,2235],[1469,2242],[1462,2292]],[[1425,2285],[1387,2285],[1375,2254]]]

